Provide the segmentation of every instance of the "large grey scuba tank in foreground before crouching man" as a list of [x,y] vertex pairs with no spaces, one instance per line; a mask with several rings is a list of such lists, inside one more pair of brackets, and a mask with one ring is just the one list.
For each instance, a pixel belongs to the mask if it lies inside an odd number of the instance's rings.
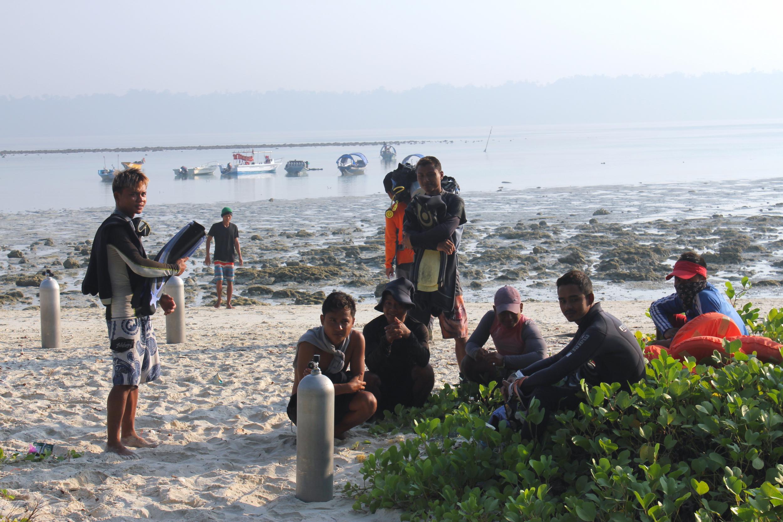
[[327,502],[334,497],[334,384],[313,355],[310,375],[297,387],[296,498]]

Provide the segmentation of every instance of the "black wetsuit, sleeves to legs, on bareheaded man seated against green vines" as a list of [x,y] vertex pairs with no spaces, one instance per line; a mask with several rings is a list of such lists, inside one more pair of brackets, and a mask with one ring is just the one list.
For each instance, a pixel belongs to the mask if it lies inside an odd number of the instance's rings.
[[[538,427],[523,427],[523,436],[543,435],[551,412],[578,408],[581,379],[593,386],[620,383],[627,391],[630,383],[644,377],[644,355],[636,338],[619,319],[601,310],[601,304],[594,304],[576,324],[579,329],[568,346],[523,370],[528,377],[519,385],[520,393],[525,401],[539,399],[539,407],[546,410]],[[563,379],[568,381],[565,386],[554,386]]]

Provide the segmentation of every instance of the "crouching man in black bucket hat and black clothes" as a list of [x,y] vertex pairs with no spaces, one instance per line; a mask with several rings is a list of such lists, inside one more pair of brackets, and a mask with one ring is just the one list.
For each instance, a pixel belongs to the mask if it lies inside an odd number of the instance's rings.
[[398,404],[422,406],[435,386],[427,326],[408,315],[416,306],[412,293],[413,283],[404,277],[388,283],[375,307],[383,315],[364,327],[364,362],[372,372],[366,374],[367,389],[378,412],[393,412]]

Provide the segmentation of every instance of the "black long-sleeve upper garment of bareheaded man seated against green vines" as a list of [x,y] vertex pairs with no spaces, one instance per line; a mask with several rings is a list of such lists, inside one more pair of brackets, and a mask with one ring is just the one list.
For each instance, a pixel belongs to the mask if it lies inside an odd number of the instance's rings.
[[520,391],[552,385],[577,370],[592,385],[620,383],[624,390],[644,376],[644,356],[636,338],[619,319],[601,310],[600,303],[576,324],[579,329],[565,348],[525,368],[528,378]]

